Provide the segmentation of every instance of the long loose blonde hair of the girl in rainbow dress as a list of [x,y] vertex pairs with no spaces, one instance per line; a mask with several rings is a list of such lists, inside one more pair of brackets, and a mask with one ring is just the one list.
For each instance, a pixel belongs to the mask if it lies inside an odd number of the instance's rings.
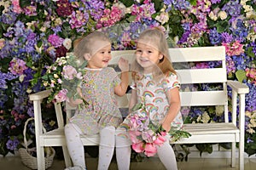
[[[163,58],[160,59],[160,62],[156,65],[153,75],[154,77],[163,77],[167,76],[170,72],[176,74],[176,71],[173,69],[170,54],[168,51],[168,43],[163,31],[160,28],[150,28],[143,31],[137,39],[137,42],[150,42],[150,45],[154,45],[160,54],[163,54]],[[135,61],[133,63],[133,72],[132,77],[134,79],[139,78],[137,72],[142,72],[143,67]]]

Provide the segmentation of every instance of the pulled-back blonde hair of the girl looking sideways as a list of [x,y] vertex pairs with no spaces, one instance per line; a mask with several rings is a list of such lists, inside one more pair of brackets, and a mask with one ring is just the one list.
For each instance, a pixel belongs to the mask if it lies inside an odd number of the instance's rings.
[[[81,61],[84,60],[84,54],[91,54],[91,48],[96,41],[106,41],[111,44],[110,39],[101,31],[95,31],[85,37],[79,37],[73,42],[74,55]],[[92,54],[91,54],[92,55]]]

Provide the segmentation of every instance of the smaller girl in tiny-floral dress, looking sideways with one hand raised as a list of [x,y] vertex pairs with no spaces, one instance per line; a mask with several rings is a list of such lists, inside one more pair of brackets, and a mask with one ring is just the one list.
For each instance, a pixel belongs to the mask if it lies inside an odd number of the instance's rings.
[[[119,68],[122,71],[119,78],[117,72],[108,67],[108,61],[111,59],[111,42],[98,31],[80,39],[75,45],[74,54],[80,60],[87,60],[78,92],[89,105],[77,109],[65,126],[67,149],[74,166],[67,169],[86,169],[84,145],[80,136],[96,133],[100,133],[98,169],[108,169],[115,144],[119,148],[116,150],[119,169],[129,169],[130,160],[124,163],[123,153],[130,153],[130,145],[124,144],[123,142],[126,141],[119,138],[122,135],[116,134],[122,132],[116,128],[123,119],[114,96],[114,94],[122,96],[126,92],[128,61],[119,59]],[[82,102],[82,99],[75,99],[70,101],[70,105],[79,105]]]

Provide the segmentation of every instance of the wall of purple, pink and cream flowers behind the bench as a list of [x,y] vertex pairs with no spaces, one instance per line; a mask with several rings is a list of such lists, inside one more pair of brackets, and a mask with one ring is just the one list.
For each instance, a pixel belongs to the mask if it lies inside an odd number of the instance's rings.
[[[134,48],[132,40],[143,26],[160,26],[179,48],[224,45],[228,78],[250,88],[246,95],[245,151],[249,156],[255,154],[255,4],[255,0],[2,0],[0,154],[5,156],[20,147],[24,122],[33,116],[28,94],[44,89],[42,77],[47,65],[71,52],[76,37],[117,25],[119,29],[109,35],[117,50]],[[47,103],[43,107],[46,128],[55,127],[51,107]],[[223,113],[218,107],[188,111],[190,122],[205,123],[220,121]],[[32,124],[30,130],[33,138]]]

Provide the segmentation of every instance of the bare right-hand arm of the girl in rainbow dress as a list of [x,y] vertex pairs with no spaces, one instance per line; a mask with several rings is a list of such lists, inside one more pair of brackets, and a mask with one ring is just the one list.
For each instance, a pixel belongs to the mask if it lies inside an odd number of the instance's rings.
[[169,99],[170,107],[165,119],[163,120],[162,127],[166,130],[166,132],[169,132],[171,130],[171,123],[177,116],[178,111],[180,110],[179,88],[172,88],[168,90],[166,95]]

